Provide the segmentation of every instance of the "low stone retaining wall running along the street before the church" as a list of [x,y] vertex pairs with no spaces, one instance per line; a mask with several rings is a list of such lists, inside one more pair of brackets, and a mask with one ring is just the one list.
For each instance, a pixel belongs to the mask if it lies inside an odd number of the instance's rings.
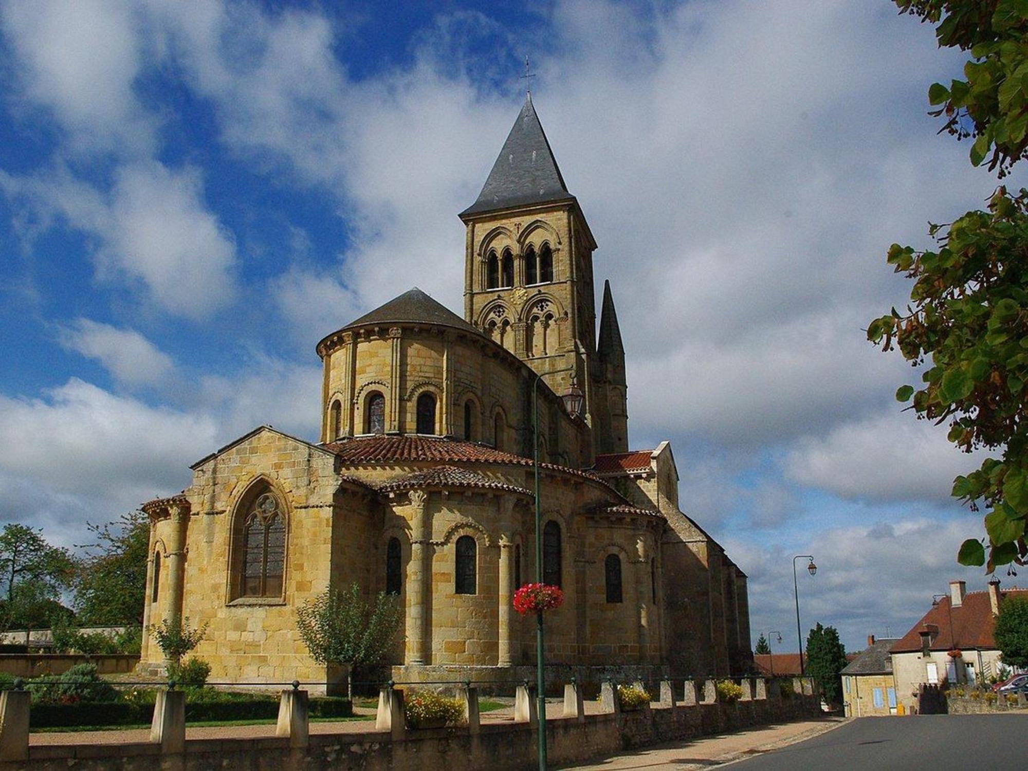
[[[763,689],[757,690],[763,692]],[[283,710],[286,711],[287,696],[283,698]],[[305,704],[305,698],[302,701]],[[304,722],[301,735],[295,734],[292,740],[287,735],[190,739],[184,743],[168,743],[163,751],[159,742],[54,744],[30,747],[28,761],[0,763],[0,771],[67,771],[70,767],[78,771],[144,771],[157,767],[182,771],[225,768],[238,771],[271,768],[283,771],[421,771],[436,768],[471,771],[489,768],[500,771],[535,768],[536,725],[529,722],[478,725],[477,701],[475,704],[473,728],[406,730],[399,733],[391,733],[387,729],[307,736]],[[554,711],[561,710],[557,707]],[[817,714],[819,699],[815,695],[797,694],[781,698],[769,694],[768,698],[734,703],[708,701],[682,706],[647,706],[631,712],[551,717],[546,724],[548,756],[552,765],[580,763],[654,742],[689,739]],[[282,715],[283,712],[280,712],[280,727],[284,725]],[[177,730],[181,731],[181,726]],[[181,737],[182,734],[178,735]]]

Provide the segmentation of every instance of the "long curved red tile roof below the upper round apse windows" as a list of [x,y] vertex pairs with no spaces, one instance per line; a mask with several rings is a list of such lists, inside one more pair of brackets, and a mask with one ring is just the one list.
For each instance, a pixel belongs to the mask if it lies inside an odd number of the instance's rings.
[[[482,463],[508,464],[511,466],[531,466],[530,457],[504,452],[485,444],[464,442],[442,437],[417,435],[356,437],[339,442],[319,445],[334,452],[343,464],[395,463],[404,461],[427,461],[436,463]],[[566,474],[585,477],[604,484],[595,475],[578,469],[570,469],[556,464],[540,464],[541,469],[562,471]]]

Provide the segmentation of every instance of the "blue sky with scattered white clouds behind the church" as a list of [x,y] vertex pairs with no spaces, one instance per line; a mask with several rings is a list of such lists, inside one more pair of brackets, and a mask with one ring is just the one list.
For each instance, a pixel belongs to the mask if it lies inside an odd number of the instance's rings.
[[885,0],[0,3],[0,518],[78,543],[254,426],[315,438],[318,339],[415,285],[460,309],[525,54],[631,443],[672,441],[755,638],[795,627],[797,553],[852,649],[984,588],[947,495],[976,461],[861,332],[888,245],[994,186],[925,114],[960,60]]

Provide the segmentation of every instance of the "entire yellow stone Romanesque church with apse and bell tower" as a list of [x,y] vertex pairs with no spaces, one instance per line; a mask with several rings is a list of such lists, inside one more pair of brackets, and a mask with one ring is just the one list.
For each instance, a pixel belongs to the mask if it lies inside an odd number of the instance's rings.
[[[461,219],[463,316],[411,289],[328,334],[320,441],[257,428],[144,505],[146,623],[208,623],[195,654],[216,680],[333,681],[295,611],[356,582],[403,604],[396,680],[525,676],[535,625],[511,601],[536,575],[541,376],[542,567],[565,593],[547,621],[553,676],[745,671],[746,577],[678,508],[670,445],[629,450],[613,293],[597,325],[596,243],[530,97]],[[160,664],[144,640],[141,666]]]

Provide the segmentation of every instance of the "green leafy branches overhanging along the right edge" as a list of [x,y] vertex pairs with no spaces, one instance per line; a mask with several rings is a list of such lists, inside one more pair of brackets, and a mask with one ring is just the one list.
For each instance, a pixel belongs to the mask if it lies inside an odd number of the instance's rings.
[[[1028,149],[1028,4],[1023,0],[895,0],[901,12],[935,25],[940,46],[968,51],[965,80],[934,83],[928,99],[941,131],[972,139],[970,160],[989,158],[1005,175]],[[987,211],[932,224],[938,247],[893,244],[887,261],[913,280],[906,313],[873,321],[868,338],[898,346],[913,366],[929,362],[923,384],[903,386],[918,418],[947,423],[964,451],[1001,451],[953,483],[953,495],[987,509],[987,571],[1028,557],[1028,191],[998,187]],[[986,546],[968,539],[963,564],[986,564]]]

